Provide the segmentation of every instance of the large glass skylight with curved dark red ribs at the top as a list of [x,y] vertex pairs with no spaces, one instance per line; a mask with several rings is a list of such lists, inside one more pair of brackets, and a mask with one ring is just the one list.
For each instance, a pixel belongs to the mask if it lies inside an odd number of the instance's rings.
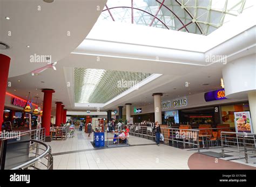
[[255,4],[253,1],[133,0],[132,4],[131,0],[108,0],[100,18],[207,35]]

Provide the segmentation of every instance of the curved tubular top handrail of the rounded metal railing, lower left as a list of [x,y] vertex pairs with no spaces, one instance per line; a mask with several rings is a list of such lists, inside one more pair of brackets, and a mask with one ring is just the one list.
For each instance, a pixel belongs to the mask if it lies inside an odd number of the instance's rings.
[[[51,147],[49,145],[47,145],[46,143],[42,142],[42,141],[38,141],[38,140],[26,140],[28,142],[33,141],[33,142],[37,142],[43,146],[45,146],[46,150],[44,153],[42,153],[41,155],[35,157],[34,159],[25,162],[19,166],[16,166],[14,168],[11,168],[11,170],[16,170],[16,169],[25,169],[30,167],[31,165],[35,164],[36,162],[38,162],[40,159],[42,159],[46,154],[50,154],[51,155]],[[51,163],[52,164],[52,163]],[[51,166],[50,166],[51,167]],[[49,169],[49,168],[48,168]]]

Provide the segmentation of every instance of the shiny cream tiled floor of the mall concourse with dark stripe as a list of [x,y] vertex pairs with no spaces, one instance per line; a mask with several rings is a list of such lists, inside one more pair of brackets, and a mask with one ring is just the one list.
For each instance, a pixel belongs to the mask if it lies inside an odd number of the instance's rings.
[[194,154],[131,135],[129,147],[97,149],[92,137],[77,129],[74,138],[49,142],[53,169],[190,169],[188,160]]

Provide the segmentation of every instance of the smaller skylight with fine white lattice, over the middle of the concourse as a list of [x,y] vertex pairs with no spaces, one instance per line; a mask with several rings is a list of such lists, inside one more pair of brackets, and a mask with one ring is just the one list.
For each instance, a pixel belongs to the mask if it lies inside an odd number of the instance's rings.
[[75,102],[106,103],[151,74],[75,68]]

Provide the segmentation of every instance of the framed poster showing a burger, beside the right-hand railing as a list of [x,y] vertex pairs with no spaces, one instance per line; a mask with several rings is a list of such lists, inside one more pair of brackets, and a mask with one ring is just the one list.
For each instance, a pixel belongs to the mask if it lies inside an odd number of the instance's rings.
[[234,118],[237,132],[253,133],[250,112],[234,112]]

